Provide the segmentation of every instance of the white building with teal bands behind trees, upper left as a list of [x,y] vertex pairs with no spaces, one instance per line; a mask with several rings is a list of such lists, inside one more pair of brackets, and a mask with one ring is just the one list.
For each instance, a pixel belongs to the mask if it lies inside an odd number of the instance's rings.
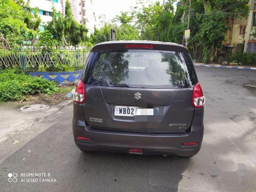
[[47,25],[52,20],[52,6],[55,7],[57,12],[62,12],[60,0],[30,0],[31,8],[39,8],[39,16],[41,17],[41,31],[44,31],[45,25]]

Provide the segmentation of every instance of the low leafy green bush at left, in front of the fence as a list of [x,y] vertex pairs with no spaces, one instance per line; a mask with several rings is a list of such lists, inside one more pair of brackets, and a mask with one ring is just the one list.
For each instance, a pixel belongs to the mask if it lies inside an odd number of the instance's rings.
[[53,94],[59,90],[55,81],[16,73],[13,70],[0,71],[0,82],[0,101],[17,100],[28,94]]

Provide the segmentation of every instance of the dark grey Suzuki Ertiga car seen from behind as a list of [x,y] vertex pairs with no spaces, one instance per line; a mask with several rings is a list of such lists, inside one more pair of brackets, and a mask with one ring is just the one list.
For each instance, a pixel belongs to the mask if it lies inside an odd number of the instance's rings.
[[205,98],[189,52],[159,41],[110,41],[91,50],[74,93],[81,151],[192,157]]

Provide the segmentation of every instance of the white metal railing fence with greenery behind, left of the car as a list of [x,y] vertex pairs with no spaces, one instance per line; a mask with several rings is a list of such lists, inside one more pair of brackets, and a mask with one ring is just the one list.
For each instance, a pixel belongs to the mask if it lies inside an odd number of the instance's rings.
[[0,49],[0,68],[20,68],[22,71],[36,71],[37,69],[81,69],[91,47],[84,49],[53,49],[40,51],[31,49],[9,50]]

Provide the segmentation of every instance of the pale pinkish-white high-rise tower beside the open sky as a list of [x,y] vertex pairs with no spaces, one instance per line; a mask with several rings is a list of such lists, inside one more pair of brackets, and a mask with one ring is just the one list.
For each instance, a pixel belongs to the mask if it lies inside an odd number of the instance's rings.
[[[62,15],[65,15],[65,5],[67,0],[60,0],[62,6]],[[69,0],[73,18],[79,23],[86,23],[86,1],[85,0]]]

